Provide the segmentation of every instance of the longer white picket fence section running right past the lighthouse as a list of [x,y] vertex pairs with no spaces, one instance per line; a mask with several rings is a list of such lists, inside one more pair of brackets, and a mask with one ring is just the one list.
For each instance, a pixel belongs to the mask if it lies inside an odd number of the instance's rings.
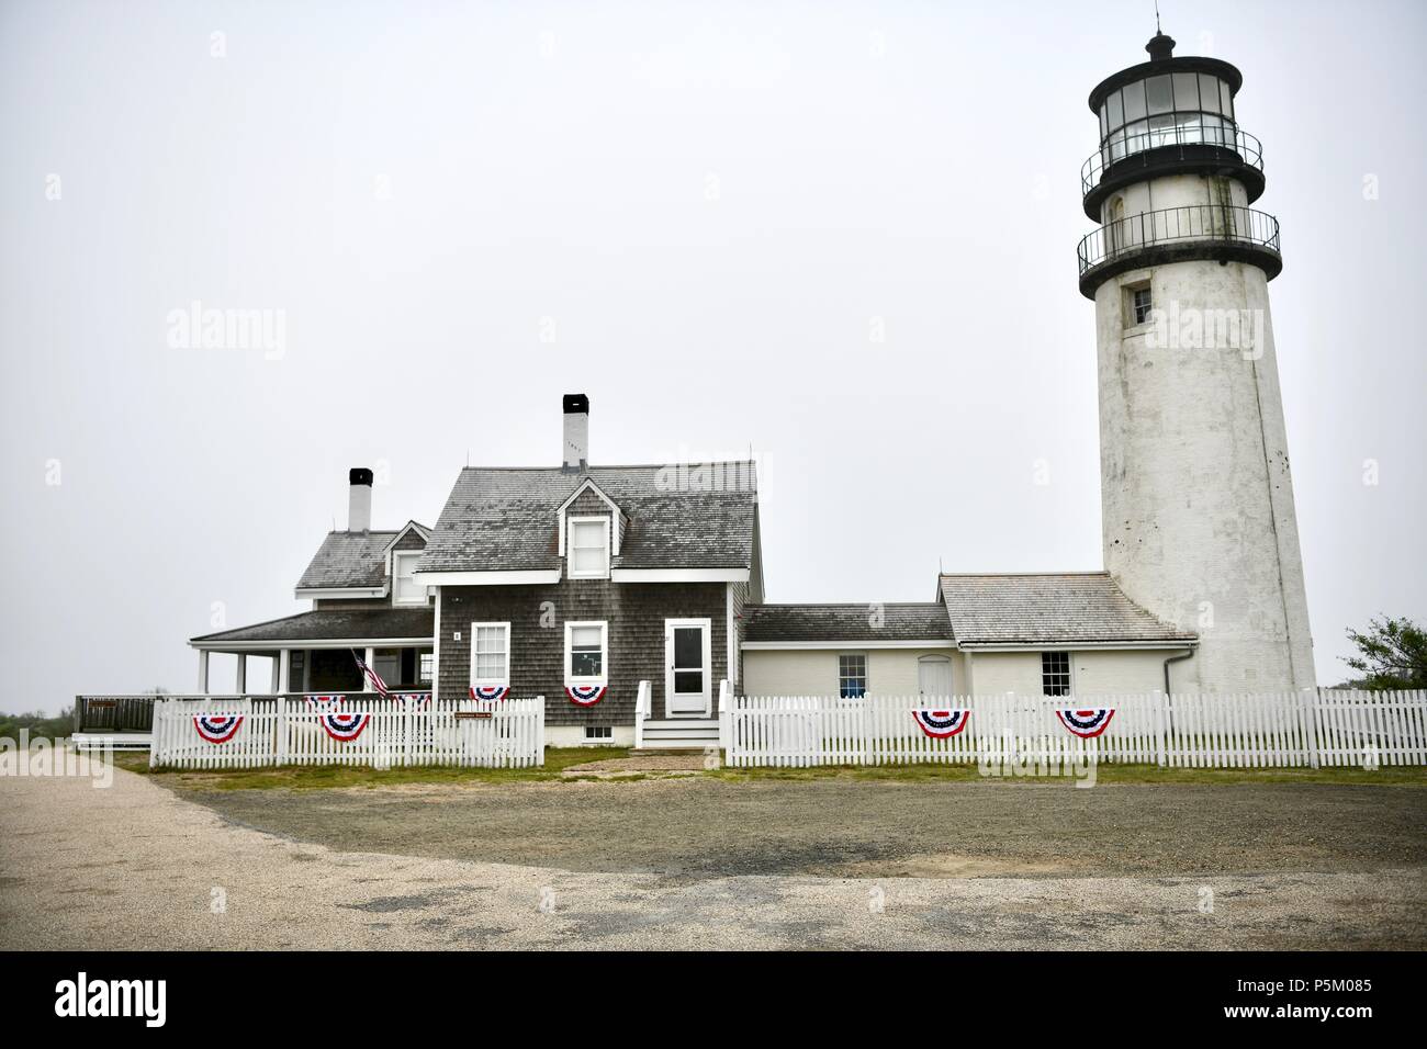
[[[1056,709],[1114,709],[1095,739]],[[948,739],[922,732],[918,708],[970,711]],[[1177,768],[1427,765],[1427,692],[1276,692],[1119,696],[719,696],[733,766],[993,764],[1056,759]]]

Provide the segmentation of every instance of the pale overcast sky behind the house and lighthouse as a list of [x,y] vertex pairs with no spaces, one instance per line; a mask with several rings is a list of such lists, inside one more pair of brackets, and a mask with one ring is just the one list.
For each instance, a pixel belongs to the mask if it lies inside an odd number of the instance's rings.
[[[1346,627],[1427,619],[1424,7],[1160,9],[1264,144],[1333,684]],[[1153,30],[1150,0],[4,0],[0,708],[191,691],[215,615],[305,607],[348,467],[375,527],[432,524],[467,460],[557,465],[567,391],[595,462],[752,447],[771,601],[1100,568],[1085,100]],[[280,351],[176,348],[194,301],[273,311]]]

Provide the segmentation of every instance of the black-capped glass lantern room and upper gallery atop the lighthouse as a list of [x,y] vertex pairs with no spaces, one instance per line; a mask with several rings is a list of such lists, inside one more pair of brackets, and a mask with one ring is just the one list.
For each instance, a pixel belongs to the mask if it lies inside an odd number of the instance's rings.
[[1251,204],[1263,194],[1263,151],[1240,130],[1234,96],[1243,74],[1220,59],[1174,57],[1174,40],[1156,33],[1150,60],[1106,77],[1090,91],[1100,148],[1080,170],[1085,213],[1099,220],[1116,190],[1166,174],[1224,174]]

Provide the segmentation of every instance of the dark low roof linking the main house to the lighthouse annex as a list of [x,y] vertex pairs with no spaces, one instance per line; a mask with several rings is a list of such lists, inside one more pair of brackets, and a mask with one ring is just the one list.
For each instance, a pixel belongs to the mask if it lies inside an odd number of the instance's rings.
[[[860,605],[745,605],[745,641],[950,641],[940,602]],[[873,625],[873,624],[879,625]]]

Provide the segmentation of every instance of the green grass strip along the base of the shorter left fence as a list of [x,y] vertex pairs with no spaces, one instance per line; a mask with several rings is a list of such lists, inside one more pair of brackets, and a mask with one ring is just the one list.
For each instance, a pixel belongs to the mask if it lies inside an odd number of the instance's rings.
[[[268,789],[331,789],[350,786],[400,786],[402,784],[532,784],[561,781],[561,772],[572,765],[609,758],[628,758],[629,749],[619,746],[551,746],[545,749],[545,765],[539,768],[457,768],[427,765],[415,768],[374,769],[368,765],[283,765],[255,769],[150,769],[147,754],[116,754],[114,765],[151,776],[166,786],[193,791],[268,791]],[[567,776],[579,782],[585,776]]]

